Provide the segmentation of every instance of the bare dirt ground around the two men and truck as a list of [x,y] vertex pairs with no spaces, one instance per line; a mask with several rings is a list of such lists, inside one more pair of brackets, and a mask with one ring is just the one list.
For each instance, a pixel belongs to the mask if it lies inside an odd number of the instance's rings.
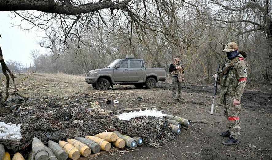
[[[19,79],[22,78],[18,76]],[[68,76],[65,74],[34,74],[25,80],[24,85],[36,80],[28,90],[22,90],[27,96],[63,94],[84,91],[95,94],[95,91],[84,81],[84,76]],[[35,88],[49,85],[46,88]],[[62,86],[61,86],[62,85]],[[34,87],[35,86],[35,87]],[[97,159],[272,159],[272,92],[269,87],[247,89],[241,100],[240,114],[241,136],[236,146],[224,146],[225,137],[217,135],[226,130],[226,119],[223,106],[216,98],[214,114],[210,115],[212,102],[212,85],[200,86],[187,84],[183,88],[183,102],[172,101],[171,84],[157,83],[154,89],[136,89],[133,85],[115,85],[114,89],[103,91],[107,94],[119,95],[116,107],[100,103],[103,109],[119,110],[127,107],[160,105],[167,114],[180,116],[190,120],[205,120],[208,123],[194,123],[183,127],[181,135],[161,148],[140,146],[134,150],[123,149],[106,154],[99,154]],[[271,88],[271,87],[270,87]],[[138,101],[137,97],[142,97]],[[112,100],[113,101],[113,100]],[[250,145],[256,148],[249,147]],[[168,148],[169,147],[169,148]],[[126,151],[124,151],[126,150]],[[173,153],[171,153],[171,151]],[[124,152],[121,152],[124,151]],[[195,154],[195,153],[198,154]],[[200,153],[199,153],[200,152]]]

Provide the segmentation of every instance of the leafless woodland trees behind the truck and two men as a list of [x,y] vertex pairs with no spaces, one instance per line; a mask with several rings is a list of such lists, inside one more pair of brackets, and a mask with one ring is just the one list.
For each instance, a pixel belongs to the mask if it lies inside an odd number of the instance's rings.
[[[68,2],[80,5],[82,1]],[[88,2],[93,6],[122,4],[107,0]],[[225,61],[223,44],[236,42],[239,50],[247,53],[247,83],[272,83],[272,1],[122,2],[126,7],[105,7],[72,15],[42,10],[12,11],[14,16],[21,16],[32,27],[45,32],[46,36],[38,43],[49,52],[33,49],[32,67],[38,72],[84,74],[131,54],[143,58],[146,67],[168,70],[173,57],[178,55],[185,68],[185,79],[206,83],[213,81],[211,74],[217,64]],[[13,61],[9,64],[15,68],[22,66]]]

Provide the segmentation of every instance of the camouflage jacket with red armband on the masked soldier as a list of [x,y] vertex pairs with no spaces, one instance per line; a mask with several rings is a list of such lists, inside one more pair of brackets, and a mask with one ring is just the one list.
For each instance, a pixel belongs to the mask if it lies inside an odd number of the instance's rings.
[[[224,95],[235,96],[235,99],[241,100],[247,81],[247,62],[242,55],[238,55],[239,61],[230,66],[226,72],[224,83],[221,84],[220,102],[224,102]],[[230,60],[225,66],[230,63]]]

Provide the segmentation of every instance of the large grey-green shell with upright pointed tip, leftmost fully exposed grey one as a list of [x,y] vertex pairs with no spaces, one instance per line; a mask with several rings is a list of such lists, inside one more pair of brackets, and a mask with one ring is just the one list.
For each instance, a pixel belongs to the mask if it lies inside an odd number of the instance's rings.
[[35,160],[48,160],[48,152],[40,139],[34,137],[32,140],[32,151]]

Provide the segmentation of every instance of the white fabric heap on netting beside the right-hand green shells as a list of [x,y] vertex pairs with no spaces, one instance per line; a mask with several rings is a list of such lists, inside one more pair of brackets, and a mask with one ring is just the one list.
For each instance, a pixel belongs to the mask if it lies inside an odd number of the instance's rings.
[[140,117],[140,116],[151,116],[151,117],[160,117],[166,116],[166,114],[163,114],[161,111],[157,110],[139,110],[134,112],[128,112],[128,113],[122,113],[117,118],[119,120],[130,120],[131,118]]

